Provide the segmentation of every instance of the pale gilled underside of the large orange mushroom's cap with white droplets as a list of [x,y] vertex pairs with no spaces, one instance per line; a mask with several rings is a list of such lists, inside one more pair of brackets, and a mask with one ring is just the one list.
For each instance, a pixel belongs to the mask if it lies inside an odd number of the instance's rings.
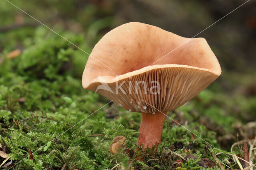
[[208,69],[164,64],[147,66],[120,76],[100,76],[87,89],[139,113],[167,112],[194,98],[218,78]]

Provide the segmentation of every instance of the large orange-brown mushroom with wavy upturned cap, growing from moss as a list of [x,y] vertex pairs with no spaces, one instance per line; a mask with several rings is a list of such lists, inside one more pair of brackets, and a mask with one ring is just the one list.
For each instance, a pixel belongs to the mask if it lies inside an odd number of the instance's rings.
[[204,38],[189,39],[131,22],[95,45],[82,85],[128,111],[142,113],[138,144],[152,148],[161,141],[167,111],[194,98],[220,73]]

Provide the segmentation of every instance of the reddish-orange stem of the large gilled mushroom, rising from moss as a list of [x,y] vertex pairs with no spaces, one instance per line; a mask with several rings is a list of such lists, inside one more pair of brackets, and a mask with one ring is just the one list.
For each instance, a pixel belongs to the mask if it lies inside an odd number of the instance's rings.
[[137,144],[143,145],[143,149],[146,147],[153,148],[154,145],[158,147],[162,138],[165,117],[166,113],[161,112],[155,114],[142,113]]

